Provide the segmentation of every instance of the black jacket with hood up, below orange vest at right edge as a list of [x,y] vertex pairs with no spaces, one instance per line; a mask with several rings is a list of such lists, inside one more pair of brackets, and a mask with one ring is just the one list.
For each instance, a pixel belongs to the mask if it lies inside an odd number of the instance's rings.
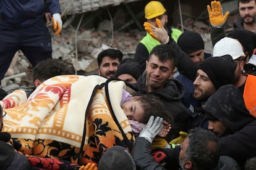
[[242,166],[245,160],[256,156],[256,118],[245,107],[237,87],[220,87],[202,107],[208,117],[218,119],[228,128],[220,138],[221,155],[231,156]]

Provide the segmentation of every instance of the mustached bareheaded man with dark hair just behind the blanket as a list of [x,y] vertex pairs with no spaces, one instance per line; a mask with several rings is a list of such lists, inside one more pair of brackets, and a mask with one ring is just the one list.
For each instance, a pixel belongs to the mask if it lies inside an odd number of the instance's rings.
[[122,61],[122,52],[116,49],[106,49],[98,54],[98,74],[104,78],[113,78],[117,67]]

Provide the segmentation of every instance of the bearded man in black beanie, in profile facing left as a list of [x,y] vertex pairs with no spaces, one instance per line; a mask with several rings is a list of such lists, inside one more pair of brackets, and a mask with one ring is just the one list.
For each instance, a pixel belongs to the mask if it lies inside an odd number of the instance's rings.
[[206,102],[221,86],[233,83],[236,66],[237,62],[234,62],[230,55],[211,57],[198,65],[197,77],[193,83],[195,87],[193,97],[201,105],[195,108],[189,121],[189,128],[208,129],[208,119],[202,110],[202,103]]

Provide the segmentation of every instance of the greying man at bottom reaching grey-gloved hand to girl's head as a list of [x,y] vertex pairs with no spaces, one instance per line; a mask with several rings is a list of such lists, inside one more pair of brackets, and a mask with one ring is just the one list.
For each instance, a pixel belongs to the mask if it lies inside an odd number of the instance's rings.
[[[217,166],[220,157],[218,136],[206,129],[195,128],[177,148],[166,148],[166,165],[163,167],[151,156],[150,144],[163,127],[163,119],[156,117],[148,121],[147,126],[140,132],[132,156],[137,169],[178,169],[174,168],[174,161],[178,161],[182,169],[205,170]],[[174,150],[179,150],[178,152]]]

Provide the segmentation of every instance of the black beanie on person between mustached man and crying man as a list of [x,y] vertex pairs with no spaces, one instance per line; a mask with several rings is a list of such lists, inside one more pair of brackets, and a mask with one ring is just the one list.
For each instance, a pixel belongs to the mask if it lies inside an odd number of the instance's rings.
[[137,63],[122,63],[117,67],[114,77],[117,78],[122,74],[132,75],[137,80],[140,77],[139,65]]

